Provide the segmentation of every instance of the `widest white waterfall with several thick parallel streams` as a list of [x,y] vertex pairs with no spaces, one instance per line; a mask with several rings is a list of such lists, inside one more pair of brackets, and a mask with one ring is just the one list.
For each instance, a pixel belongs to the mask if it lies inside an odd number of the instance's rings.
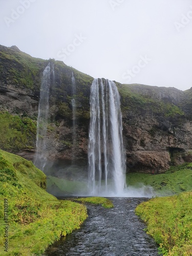
[[120,195],[126,186],[125,153],[116,84],[94,79],[90,105],[89,187],[92,195]]

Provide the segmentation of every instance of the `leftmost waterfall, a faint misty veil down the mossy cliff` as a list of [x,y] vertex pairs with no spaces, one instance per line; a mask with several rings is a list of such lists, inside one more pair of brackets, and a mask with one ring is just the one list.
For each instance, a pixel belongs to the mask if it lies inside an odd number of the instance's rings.
[[54,67],[51,67],[51,64],[49,62],[42,75],[40,100],[38,106],[36,153],[34,164],[41,170],[44,170],[47,161],[46,135],[49,119],[49,93],[51,87],[51,71],[53,72],[54,79]]

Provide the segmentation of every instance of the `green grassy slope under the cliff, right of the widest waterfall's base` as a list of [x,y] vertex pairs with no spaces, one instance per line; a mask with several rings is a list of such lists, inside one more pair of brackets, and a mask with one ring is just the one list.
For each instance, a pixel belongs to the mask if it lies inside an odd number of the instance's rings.
[[126,175],[126,183],[128,186],[135,187],[141,184],[151,186],[159,196],[190,191],[192,190],[192,163],[172,166],[164,174],[129,173]]

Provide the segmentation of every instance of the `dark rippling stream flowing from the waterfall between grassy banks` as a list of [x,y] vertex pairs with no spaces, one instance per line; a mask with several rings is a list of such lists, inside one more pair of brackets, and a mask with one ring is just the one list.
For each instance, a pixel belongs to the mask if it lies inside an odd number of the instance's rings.
[[146,198],[113,198],[114,208],[88,205],[81,228],[51,246],[46,256],[157,256],[157,245],[135,215]]

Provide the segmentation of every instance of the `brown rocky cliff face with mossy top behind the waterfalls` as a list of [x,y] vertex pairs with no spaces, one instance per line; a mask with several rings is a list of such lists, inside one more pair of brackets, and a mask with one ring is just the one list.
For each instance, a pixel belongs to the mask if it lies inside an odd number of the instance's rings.
[[[87,160],[93,77],[61,61],[32,58],[15,46],[0,46],[0,60],[0,111],[18,115],[21,120],[27,116],[34,122],[38,114],[42,72],[49,61],[53,63],[50,119],[45,138],[47,157],[50,160]],[[72,72],[76,82],[75,95]],[[127,172],[162,173],[170,165],[192,161],[192,88],[183,92],[142,84],[116,84],[121,97]],[[75,144],[71,104],[74,97],[77,105]],[[13,128],[17,129],[16,126]],[[0,147],[32,160],[35,133],[33,140],[33,148],[26,144],[18,149],[13,142],[5,148],[3,140]]]

